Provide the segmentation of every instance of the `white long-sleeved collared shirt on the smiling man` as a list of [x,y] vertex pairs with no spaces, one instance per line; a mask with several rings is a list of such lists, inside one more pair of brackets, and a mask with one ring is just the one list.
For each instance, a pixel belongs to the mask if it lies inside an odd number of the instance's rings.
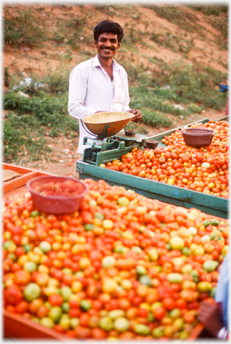
[[68,113],[79,121],[78,153],[83,154],[83,138],[90,135],[82,126],[81,118],[96,111],[128,111],[128,74],[113,60],[113,81],[98,60],[93,59],[78,64],[71,71],[69,80]]

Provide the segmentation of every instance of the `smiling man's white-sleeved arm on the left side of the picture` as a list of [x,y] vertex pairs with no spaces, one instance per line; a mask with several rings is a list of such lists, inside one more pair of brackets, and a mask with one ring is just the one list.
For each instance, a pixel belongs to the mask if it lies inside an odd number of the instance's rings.
[[96,108],[83,106],[86,97],[87,78],[81,69],[75,68],[69,79],[68,113],[81,119],[96,113]]

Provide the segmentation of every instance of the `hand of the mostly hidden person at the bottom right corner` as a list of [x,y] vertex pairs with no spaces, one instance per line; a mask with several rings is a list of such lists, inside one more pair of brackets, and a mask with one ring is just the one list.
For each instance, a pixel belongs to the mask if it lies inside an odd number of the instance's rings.
[[216,303],[211,304],[207,301],[200,303],[198,320],[214,337],[217,337],[217,333],[223,327],[220,309],[217,307]]

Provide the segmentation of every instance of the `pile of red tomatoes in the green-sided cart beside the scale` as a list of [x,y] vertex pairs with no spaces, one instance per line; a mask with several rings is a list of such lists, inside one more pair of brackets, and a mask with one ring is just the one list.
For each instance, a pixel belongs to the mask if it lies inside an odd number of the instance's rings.
[[212,128],[215,136],[207,147],[186,146],[180,130],[163,138],[166,148],[133,148],[101,167],[148,178],[209,195],[229,198],[229,130],[227,121],[195,123],[193,128]]

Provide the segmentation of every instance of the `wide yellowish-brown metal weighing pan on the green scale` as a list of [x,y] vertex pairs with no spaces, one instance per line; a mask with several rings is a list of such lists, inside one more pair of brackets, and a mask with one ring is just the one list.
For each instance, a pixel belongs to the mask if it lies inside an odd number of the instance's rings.
[[83,123],[97,136],[103,135],[108,124],[108,131],[104,137],[109,137],[122,130],[134,116],[133,113],[122,111],[98,112],[83,118]]

